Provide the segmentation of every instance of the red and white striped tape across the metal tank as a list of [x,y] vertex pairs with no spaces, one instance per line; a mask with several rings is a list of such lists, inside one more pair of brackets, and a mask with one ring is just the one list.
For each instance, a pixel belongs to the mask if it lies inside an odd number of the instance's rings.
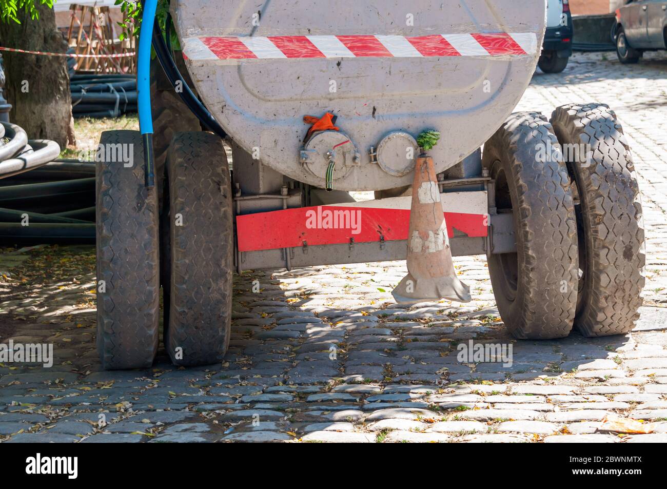
[[351,57],[522,56],[537,53],[534,33],[189,37],[183,54],[197,61]]

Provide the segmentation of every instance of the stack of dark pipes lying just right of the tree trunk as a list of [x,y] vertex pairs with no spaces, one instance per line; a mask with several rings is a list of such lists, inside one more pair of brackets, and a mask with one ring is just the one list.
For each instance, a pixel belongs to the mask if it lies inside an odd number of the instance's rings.
[[137,112],[137,76],[125,74],[72,75],[74,117],[120,117]]

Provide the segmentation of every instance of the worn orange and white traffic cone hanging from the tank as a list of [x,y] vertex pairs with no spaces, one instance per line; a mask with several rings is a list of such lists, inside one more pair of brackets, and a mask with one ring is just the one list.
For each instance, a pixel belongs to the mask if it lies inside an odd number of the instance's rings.
[[470,302],[470,288],[458,280],[440,201],[433,159],[420,156],[412,183],[408,275],[392,292],[396,302],[448,299]]

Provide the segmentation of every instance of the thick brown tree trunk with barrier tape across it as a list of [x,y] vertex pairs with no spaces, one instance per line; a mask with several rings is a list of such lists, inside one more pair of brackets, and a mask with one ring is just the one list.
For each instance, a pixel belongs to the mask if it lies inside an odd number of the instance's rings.
[[[0,45],[30,51],[65,53],[67,42],[55,26],[55,13],[36,5],[39,20],[23,9],[14,21],[0,23]],[[23,127],[29,139],[51,139],[61,149],[75,144],[67,58],[3,53],[5,97],[13,105],[9,119]]]

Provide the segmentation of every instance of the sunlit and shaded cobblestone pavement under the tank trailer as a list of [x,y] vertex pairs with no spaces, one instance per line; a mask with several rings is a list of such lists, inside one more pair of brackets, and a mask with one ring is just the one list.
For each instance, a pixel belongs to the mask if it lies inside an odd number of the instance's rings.
[[[404,262],[314,267],[235,279],[222,366],[175,368],[160,352],[149,370],[104,372],[94,251],[39,248],[0,258],[0,338],[53,343],[55,363],[0,366],[0,440],[667,442],[667,55],[634,66],[576,55],[563,75],[536,74],[519,109],[576,101],[616,110],[640,173],[648,284],[636,332],[513,342],[511,368],[463,364],[460,342],[512,342],[483,258],[456,260],[474,291],[465,307],[396,306]],[[610,431],[608,414],[654,432]]]

